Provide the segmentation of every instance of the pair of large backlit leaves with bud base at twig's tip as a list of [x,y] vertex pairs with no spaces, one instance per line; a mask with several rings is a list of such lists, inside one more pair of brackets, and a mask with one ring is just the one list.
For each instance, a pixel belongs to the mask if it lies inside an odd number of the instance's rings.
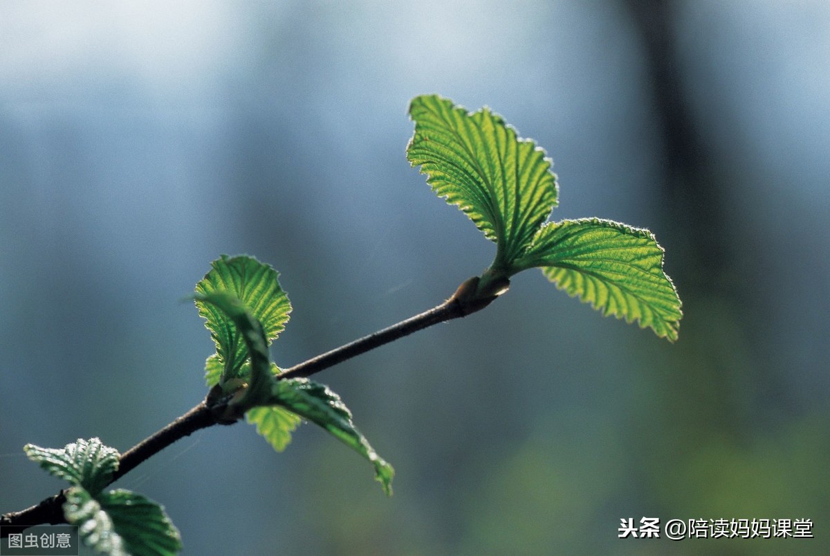
[[558,192],[543,150],[518,139],[487,108],[468,113],[440,96],[417,96],[409,113],[415,135],[408,160],[497,245],[469,307],[489,303],[510,276],[538,266],[604,314],[676,340],[680,298],[662,272],[663,250],[651,233],[599,219],[543,224]]

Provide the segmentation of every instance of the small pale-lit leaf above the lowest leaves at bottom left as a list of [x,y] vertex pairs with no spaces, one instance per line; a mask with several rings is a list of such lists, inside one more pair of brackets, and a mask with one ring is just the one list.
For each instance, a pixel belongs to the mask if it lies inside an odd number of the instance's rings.
[[98,494],[110,484],[120,458],[118,450],[104,445],[98,438],[79,438],[61,449],[27,444],[23,451],[51,475],[82,486],[92,494]]

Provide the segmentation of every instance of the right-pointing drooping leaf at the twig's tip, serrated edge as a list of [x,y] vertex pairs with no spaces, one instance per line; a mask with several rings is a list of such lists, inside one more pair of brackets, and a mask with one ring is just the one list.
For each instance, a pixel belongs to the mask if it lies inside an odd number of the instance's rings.
[[514,263],[515,272],[530,267],[605,315],[677,339],[681,301],[663,272],[663,248],[647,229],[602,219],[545,224]]

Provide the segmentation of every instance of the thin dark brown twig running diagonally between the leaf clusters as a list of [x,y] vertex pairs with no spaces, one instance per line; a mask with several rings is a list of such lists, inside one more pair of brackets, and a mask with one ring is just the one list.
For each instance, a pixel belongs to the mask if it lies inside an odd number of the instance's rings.
[[[509,284],[509,282],[507,282]],[[466,317],[471,312],[480,311],[489,305],[500,293],[506,291],[500,290],[498,293],[486,293],[484,297],[478,292],[479,278],[470,278],[466,282],[461,283],[456,293],[452,298],[447,299],[437,307],[424,311],[414,317],[410,317],[405,321],[393,324],[391,327],[383,328],[378,332],[369,334],[348,343],[344,346],[338,347],[325,352],[317,357],[312,357],[306,362],[295,365],[285,371],[282,371],[278,378],[298,378],[311,376],[315,372],[320,372],[324,369],[332,367],[347,359],[358,356],[361,353],[369,352],[375,347],[383,346],[388,342],[393,342],[398,338],[408,336],[413,332],[431,327],[438,322],[445,322],[453,318]],[[134,445],[129,450],[125,451],[119,460],[118,470],[112,476],[110,484],[120,477],[133,470],[140,465],[144,460],[158,454],[159,451],[164,450],[168,445],[173,444],[185,436],[193,434],[199,429],[207,428],[213,425],[227,425],[232,424],[233,421],[222,421],[217,416],[222,415],[221,407],[218,405],[225,404],[226,401],[217,401],[217,405],[212,403],[212,395],[208,394],[205,401],[193,407],[183,416],[178,417],[175,421],[165,426],[154,435],[148,436],[139,444]],[[37,524],[61,524],[66,523],[63,517],[62,505],[66,502],[64,492],[50,496],[41,501],[40,504],[34,505],[31,508],[22,509],[18,512],[9,512],[0,516],[0,525],[2,528],[2,537],[7,537],[11,533],[17,533],[22,529],[31,527]],[[15,526],[15,527],[12,527]]]

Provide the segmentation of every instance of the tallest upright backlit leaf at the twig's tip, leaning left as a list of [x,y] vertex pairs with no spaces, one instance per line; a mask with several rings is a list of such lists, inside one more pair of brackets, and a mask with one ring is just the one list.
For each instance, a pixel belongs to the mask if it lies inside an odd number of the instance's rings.
[[509,266],[557,204],[551,160],[486,107],[470,113],[441,96],[417,96],[409,115],[409,162],[496,242],[493,266]]

